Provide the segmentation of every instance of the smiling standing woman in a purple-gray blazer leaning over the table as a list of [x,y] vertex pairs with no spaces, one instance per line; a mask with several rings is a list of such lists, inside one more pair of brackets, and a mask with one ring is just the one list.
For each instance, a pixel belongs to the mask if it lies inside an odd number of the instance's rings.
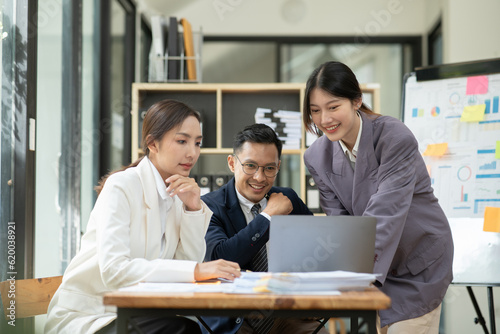
[[322,134],[304,161],[324,212],[377,218],[373,270],[392,300],[379,312],[380,333],[437,334],[453,241],[415,137],[363,104],[354,73],[333,61],[307,81],[303,122]]

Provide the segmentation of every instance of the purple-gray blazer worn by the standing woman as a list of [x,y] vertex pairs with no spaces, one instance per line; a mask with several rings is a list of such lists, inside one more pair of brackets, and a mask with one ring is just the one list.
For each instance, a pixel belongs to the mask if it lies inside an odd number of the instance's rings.
[[392,299],[380,312],[383,327],[439,306],[452,280],[453,240],[411,131],[395,118],[360,114],[355,170],[326,136],[304,161],[327,215],[377,218],[376,284]]

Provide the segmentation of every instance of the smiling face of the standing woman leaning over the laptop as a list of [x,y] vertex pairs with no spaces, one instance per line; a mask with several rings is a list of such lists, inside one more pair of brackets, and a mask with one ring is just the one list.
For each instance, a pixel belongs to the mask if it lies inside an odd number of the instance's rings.
[[314,88],[309,99],[311,118],[318,129],[331,141],[342,140],[352,149],[359,131],[356,110],[361,105],[361,100],[336,97],[320,88]]

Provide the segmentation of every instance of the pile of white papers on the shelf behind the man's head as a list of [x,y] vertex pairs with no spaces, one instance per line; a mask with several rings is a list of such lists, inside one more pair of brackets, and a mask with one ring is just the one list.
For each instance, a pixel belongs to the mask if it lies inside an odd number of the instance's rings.
[[302,136],[302,120],[299,111],[257,108],[255,123],[263,123],[276,131],[284,149],[299,149]]

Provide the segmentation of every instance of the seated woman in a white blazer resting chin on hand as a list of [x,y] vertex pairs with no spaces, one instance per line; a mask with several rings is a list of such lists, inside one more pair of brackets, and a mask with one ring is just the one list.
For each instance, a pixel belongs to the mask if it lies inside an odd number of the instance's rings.
[[[202,263],[212,212],[189,172],[200,155],[199,114],[164,100],[147,112],[145,157],[101,182],[81,249],[50,302],[46,333],[116,333],[109,291],[139,282],[192,282],[239,276],[229,261]],[[104,183],[105,182],[105,183]],[[138,318],[145,333],[200,333],[183,317]]]

